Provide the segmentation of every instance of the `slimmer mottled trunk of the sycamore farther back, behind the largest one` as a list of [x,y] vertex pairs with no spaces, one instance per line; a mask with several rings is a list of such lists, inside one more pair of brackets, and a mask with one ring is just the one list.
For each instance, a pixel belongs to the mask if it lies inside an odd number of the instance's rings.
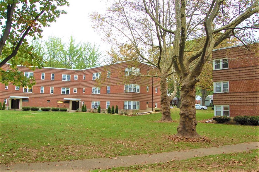
[[167,95],[167,82],[166,76],[162,76],[160,80],[160,91],[161,91],[161,109],[162,109],[162,117],[160,119],[161,122],[172,122],[171,111],[170,111],[170,100]]

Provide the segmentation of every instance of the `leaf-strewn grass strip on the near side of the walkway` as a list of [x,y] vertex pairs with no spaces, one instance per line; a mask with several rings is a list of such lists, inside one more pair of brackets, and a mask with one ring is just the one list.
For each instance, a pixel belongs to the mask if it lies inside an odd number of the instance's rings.
[[[249,152],[209,155],[187,160],[143,166],[118,167],[102,172],[119,171],[258,171],[258,149]],[[94,170],[94,172],[100,170]]]

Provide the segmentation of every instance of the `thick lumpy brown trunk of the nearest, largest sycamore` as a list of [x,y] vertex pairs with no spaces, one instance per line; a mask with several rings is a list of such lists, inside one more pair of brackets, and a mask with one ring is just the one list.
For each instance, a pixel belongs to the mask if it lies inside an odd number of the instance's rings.
[[196,132],[196,109],[195,109],[195,83],[185,81],[182,83],[180,92],[180,123],[177,127],[176,136],[199,138]]

